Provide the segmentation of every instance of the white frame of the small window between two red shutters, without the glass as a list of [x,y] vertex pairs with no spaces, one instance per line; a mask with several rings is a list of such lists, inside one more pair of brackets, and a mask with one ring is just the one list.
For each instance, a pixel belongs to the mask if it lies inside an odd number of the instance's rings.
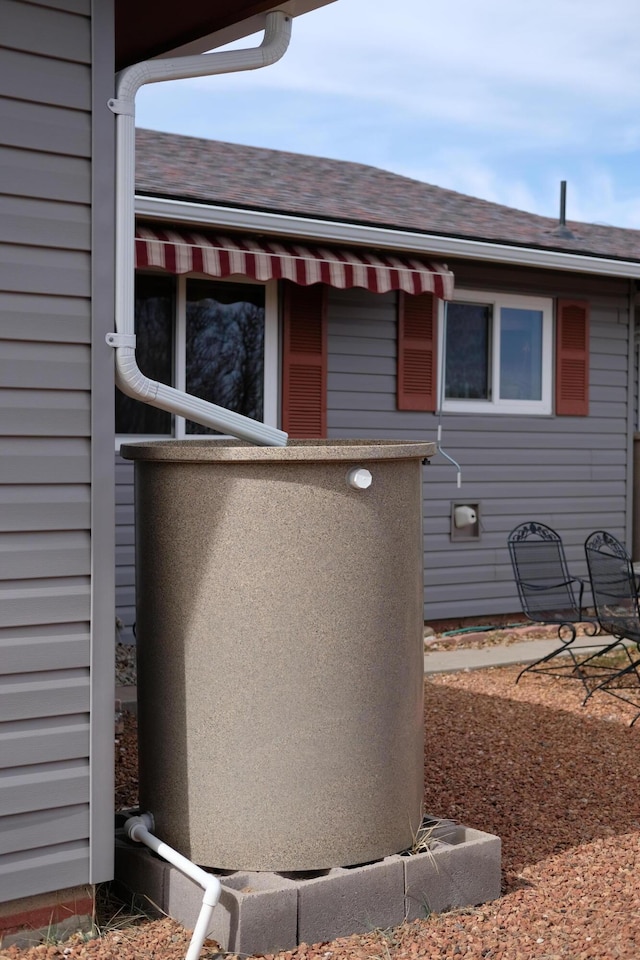
[[[501,400],[494,396],[491,400],[455,400],[445,396],[445,305],[439,303],[438,311],[438,396],[440,408],[446,413],[506,413],[549,415],[553,412],[553,300],[550,297],[529,297],[520,294],[488,293],[479,290],[456,289],[454,302],[482,303],[493,306],[494,319],[499,316],[501,307],[514,307],[522,310],[540,310],[542,313],[542,399],[541,400]],[[491,347],[492,380],[496,385],[500,376],[500,337],[492,336]]]

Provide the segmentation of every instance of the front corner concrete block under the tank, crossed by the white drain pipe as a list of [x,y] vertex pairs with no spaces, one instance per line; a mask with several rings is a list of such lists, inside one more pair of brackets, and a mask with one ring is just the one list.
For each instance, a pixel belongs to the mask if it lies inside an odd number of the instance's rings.
[[[297,884],[275,873],[243,871],[220,879],[222,892],[207,935],[223,950],[250,956],[297,945]],[[197,884],[170,869],[165,909],[189,930],[200,913],[202,895]]]

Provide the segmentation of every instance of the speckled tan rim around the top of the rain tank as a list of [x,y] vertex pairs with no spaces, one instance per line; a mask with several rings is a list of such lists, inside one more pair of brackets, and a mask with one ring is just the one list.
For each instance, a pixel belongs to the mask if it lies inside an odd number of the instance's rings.
[[327,460],[411,460],[433,457],[435,443],[398,440],[289,440],[286,447],[259,447],[242,440],[145,440],[125,443],[126,460],[171,463],[300,463]]

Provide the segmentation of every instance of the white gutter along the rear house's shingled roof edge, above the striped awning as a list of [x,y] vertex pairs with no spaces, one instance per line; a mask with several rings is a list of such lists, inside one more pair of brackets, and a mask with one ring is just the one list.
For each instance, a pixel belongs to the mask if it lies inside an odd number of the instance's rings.
[[404,250],[439,257],[486,260],[527,267],[547,267],[573,273],[592,273],[609,277],[640,279],[640,262],[597,257],[592,254],[565,253],[537,247],[494,243],[489,240],[468,240],[430,233],[413,233],[388,227],[371,227],[359,223],[341,223],[298,217],[291,214],[246,210],[217,204],[168,200],[162,197],[137,195],[135,212],[140,217],[173,220],[179,223],[226,227],[273,233],[307,240],[350,243],[386,250]]

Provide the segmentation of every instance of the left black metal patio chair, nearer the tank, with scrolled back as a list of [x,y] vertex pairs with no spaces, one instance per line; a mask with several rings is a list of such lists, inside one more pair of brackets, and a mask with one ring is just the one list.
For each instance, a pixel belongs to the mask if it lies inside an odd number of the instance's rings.
[[[534,623],[557,625],[560,641],[551,653],[523,667],[516,683],[527,672],[544,673],[581,680],[588,693],[587,680],[604,676],[595,661],[618,646],[618,641],[597,650],[593,643],[575,644],[577,624],[587,624],[587,635],[594,637],[598,622],[585,611],[585,581],[569,573],[562,539],[555,530],[530,520],[512,530],[507,543],[522,612]],[[564,662],[557,661],[563,654],[567,655]]]

